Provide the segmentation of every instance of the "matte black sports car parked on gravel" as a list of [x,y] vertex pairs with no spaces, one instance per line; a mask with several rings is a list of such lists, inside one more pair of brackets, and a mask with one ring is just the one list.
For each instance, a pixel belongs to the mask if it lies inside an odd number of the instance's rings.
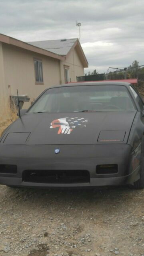
[[131,84],[48,88],[0,138],[0,184],[144,188],[144,103]]

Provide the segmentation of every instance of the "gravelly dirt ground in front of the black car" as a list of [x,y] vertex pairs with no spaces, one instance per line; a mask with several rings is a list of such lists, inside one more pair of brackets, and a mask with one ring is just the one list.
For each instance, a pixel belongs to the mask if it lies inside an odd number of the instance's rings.
[[0,185],[0,256],[142,256],[144,190]]

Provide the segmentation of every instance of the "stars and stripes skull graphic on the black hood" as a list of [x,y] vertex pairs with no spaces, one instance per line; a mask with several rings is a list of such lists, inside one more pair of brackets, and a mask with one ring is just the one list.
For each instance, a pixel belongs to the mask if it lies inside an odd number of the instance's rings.
[[58,128],[58,134],[70,134],[77,127],[86,127],[87,122],[88,119],[84,117],[64,117],[53,120],[50,128]]

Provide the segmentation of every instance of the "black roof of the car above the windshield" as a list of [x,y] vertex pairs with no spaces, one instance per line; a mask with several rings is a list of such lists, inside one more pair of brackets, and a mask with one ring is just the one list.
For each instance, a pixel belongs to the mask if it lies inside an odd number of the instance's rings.
[[[102,82],[72,82],[72,83],[67,83],[67,84],[60,84],[57,86],[52,86],[50,88],[58,88],[58,87],[65,87],[65,86],[86,86],[86,85],[122,85],[128,87],[131,85],[128,82],[107,82],[107,81],[102,81]],[[48,89],[50,89],[48,88]]]

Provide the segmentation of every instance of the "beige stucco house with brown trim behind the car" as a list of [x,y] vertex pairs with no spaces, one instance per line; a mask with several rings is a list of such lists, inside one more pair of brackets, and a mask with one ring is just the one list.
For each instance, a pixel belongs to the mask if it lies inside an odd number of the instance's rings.
[[46,88],[75,82],[88,67],[78,38],[22,42],[0,34],[0,102],[28,95],[30,102]]

